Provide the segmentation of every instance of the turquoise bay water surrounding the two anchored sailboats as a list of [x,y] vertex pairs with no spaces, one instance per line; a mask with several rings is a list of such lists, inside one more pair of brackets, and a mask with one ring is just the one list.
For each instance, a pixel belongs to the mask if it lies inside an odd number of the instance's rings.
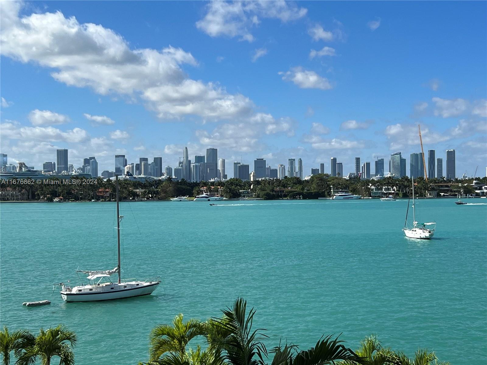
[[[136,364],[157,324],[218,316],[244,296],[268,347],[343,332],[355,348],[375,333],[409,355],[428,347],[485,364],[487,201],[468,202],[417,202],[418,220],[438,223],[430,241],[404,237],[407,201],[124,202],[123,275],[161,275],[164,286],[69,304],[52,283],[116,266],[114,203],[1,204],[1,326],[63,323],[79,337],[76,364]],[[52,304],[21,305],[43,299]]]

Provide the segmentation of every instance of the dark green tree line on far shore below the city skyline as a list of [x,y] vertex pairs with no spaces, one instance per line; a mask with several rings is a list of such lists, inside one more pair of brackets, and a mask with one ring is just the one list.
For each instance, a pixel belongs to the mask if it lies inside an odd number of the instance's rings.
[[[112,180],[75,180],[77,183],[66,183],[52,179],[54,183],[42,184],[23,180],[2,180],[0,183],[0,201],[113,201],[115,183]],[[450,197],[475,194],[471,186],[473,180],[487,184],[487,177],[465,180],[425,179],[414,180],[417,197],[435,197],[440,192]],[[313,175],[309,180],[293,177],[257,181],[228,179],[226,181],[192,183],[186,180],[154,180],[138,182],[120,180],[120,198],[122,201],[154,200],[166,201],[178,196],[195,197],[203,193],[221,195],[227,199],[239,199],[244,194],[263,200],[274,199],[318,199],[330,198],[334,192],[349,191],[364,198],[380,198],[392,194],[395,198],[408,198],[412,192],[412,181],[409,177],[382,180],[349,180],[331,177],[328,174]]]

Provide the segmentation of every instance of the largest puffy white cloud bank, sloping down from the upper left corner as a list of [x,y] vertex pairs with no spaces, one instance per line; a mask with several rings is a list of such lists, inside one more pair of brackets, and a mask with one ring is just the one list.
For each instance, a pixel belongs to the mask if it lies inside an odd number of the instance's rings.
[[[19,2],[2,3],[1,55],[51,68],[59,82],[88,87],[102,95],[116,94],[131,102],[140,97],[160,118],[234,118],[253,107],[243,95],[189,79],[182,65],[197,66],[198,62],[181,48],[131,49],[122,36],[101,25],[82,24],[59,11],[20,17],[20,6]],[[285,15],[282,5],[271,2],[245,6],[260,6],[283,21],[293,18]]]

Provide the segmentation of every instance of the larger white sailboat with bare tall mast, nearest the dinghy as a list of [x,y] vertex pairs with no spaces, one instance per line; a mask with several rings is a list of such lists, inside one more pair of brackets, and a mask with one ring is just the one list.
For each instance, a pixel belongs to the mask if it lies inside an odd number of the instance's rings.
[[[88,274],[88,284],[81,284],[75,287],[59,283],[61,286],[61,297],[66,302],[89,302],[95,300],[109,300],[129,298],[151,294],[160,284],[160,280],[131,280],[122,282],[120,277],[120,221],[123,216],[119,213],[118,200],[118,176],[115,178],[117,196],[117,243],[118,243],[118,265],[113,270],[77,270],[78,273]],[[112,283],[110,276],[118,273],[118,281]]]

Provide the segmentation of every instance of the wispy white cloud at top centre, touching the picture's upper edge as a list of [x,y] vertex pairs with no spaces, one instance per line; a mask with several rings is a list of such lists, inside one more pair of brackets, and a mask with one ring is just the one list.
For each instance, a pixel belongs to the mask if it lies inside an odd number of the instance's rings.
[[280,19],[285,23],[306,15],[307,9],[292,2],[279,1],[211,1],[206,5],[205,17],[196,27],[211,37],[239,37],[252,42],[249,29],[257,26],[260,18]]

